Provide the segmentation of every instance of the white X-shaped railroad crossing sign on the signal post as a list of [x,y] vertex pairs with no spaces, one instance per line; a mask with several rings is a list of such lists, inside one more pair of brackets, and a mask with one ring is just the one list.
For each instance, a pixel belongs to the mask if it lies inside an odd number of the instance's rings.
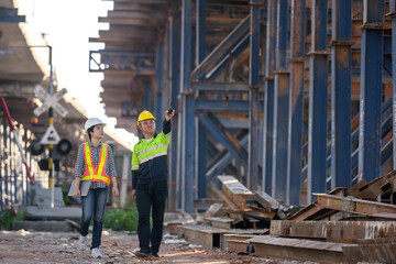
[[55,95],[52,96],[46,92],[46,90],[44,90],[41,86],[36,86],[33,91],[43,101],[43,105],[34,109],[33,111],[36,117],[41,116],[51,107],[63,118],[67,116],[68,111],[63,106],[61,106],[61,103],[57,102],[67,92],[66,88],[63,88],[62,90],[57,91]]

